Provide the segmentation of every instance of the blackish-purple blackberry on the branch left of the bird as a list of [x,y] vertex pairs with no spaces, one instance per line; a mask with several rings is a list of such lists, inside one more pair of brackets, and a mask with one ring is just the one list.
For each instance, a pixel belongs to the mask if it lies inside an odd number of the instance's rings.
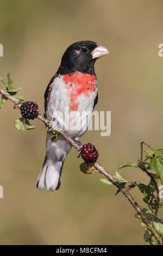
[[39,107],[36,104],[36,102],[33,102],[33,101],[23,102],[20,108],[22,117],[26,119],[32,119],[32,120],[34,118],[37,118],[39,115],[39,111],[37,111],[38,108]]

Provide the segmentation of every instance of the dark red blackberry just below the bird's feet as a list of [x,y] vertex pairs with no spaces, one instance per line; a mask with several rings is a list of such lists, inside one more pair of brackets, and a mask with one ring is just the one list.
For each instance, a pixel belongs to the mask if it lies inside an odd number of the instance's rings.
[[95,163],[98,159],[98,151],[91,143],[83,145],[80,149],[80,153],[86,163]]

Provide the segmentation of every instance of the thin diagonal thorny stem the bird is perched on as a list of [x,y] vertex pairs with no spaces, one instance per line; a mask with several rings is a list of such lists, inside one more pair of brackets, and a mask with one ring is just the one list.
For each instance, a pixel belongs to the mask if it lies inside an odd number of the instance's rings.
[[[5,90],[2,90],[1,88],[0,88],[0,93],[3,96],[7,97],[12,102],[14,102],[15,105],[16,105],[15,107],[17,107],[17,108],[21,107],[22,102],[18,101],[14,96],[11,96],[9,93],[5,92]],[[37,118],[40,119],[41,121],[43,121],[43,123],[45,123],[48,126],[52,124],[52,120],[49,120],[49,119],[43,117],[41,114],[39,114]],[[62,137],[65,138],[65,140],[68,143],[70,143],[74,148],[76,148],[79,151],[80,144],[77,141],[75,141],[72,137],[68,136],[64,130],[57,130],[57,131],[60,133],[60,135]],[[155,239],[158,241],[158,244],[162,245],[162,239],[161,239],[160,235],[158,234],[158,231],[154,228],[153,223],[151,223],[151,221],[148,220],[147,216],[142,211],[141,207],[137,204],[135,199],[131,196],[131,194],[129,193],[128,188],[123,187],[114,178],[114,176],[112,176],[107,170],[105,170],[104,167],[101,166],[101,164],[99,164],[98,162],[94,163],[93,165],[96,167],[96,169],[98,170],[99,173],[103,174],[109,181],[112,182],[112,184],[114,184],[118,188],[118,190],[120,190],[124,194],[124,196],[129,200],[129,202],[133,206],[133,208],[136,210],[136,212],[141,216],[143,222],[146,223],[147,228],[154,235]]]

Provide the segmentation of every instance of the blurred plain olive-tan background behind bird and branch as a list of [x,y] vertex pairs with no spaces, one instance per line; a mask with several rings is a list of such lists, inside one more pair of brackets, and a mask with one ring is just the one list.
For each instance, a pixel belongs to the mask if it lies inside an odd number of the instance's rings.
[[[66,48],[80,40],[96,41],[111,52],[95,65],[95,110],[111,111],[111,135],[87,131],[81,141],[96,145],[98,162],[111,174],[118,164],[140,158],[141,140],[163,147],[161,0],[1,0],[0,7],[0,77],[6,81],[11,72],[13,86],[22,86],[26,101],[37,101],[43,113],[43,94]],[[14,127],[20,116],[9,101],[0,111],[0,243],[145,244],[144,229],[129,202],[120,193],[115,197],[116,188],[99,181],[102,175],[81,173],[82,160],[74,149],[66,158],[60,189],[36,189],[45,157],[45,126],[34,120],[35,130],[20,133]],[[127,180],[148,183],[140,169],[120,173]],[[144,206],[139,190],[131,193]]]

